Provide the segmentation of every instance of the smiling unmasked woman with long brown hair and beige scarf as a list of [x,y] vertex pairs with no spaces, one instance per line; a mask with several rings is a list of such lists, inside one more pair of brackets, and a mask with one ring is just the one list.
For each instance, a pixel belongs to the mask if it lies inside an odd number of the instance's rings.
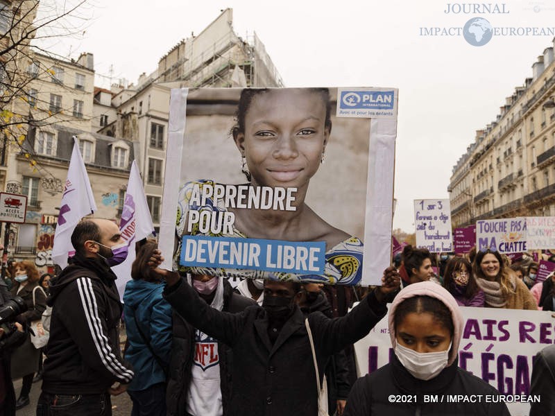
[[524,282],[505,265],[499,252],[490,249],[478,251],[472,270],[478,287],[484,291],[486,306],[538,310],[536,300]]

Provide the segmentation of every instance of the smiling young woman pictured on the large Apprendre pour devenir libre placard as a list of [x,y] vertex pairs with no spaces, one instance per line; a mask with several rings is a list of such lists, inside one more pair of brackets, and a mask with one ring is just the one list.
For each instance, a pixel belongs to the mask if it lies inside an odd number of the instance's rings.
[[[323,242],[323,274],[305,266],[294,272],[262,266],[250,270],[255,268],[243,263],[238,266],[244,267],[193,266],[187,271],[350,285],[361,279],[362,241],[328,224],[305,202],[311,177],[325,159],[332,130],[330,112],[327,88],[243,89],[232,136],[248,183],[188,182],[178,198],[179,237],[189,234],[277,240],[278,245],[267,246],[271,250],[268,257],[280,261],[285,258],[280,250],[287,242],[300,242],[300,250],[305,247],[302,243]],[[203,218],[210,221],[210,229]],[[191,241],[190,246],[194,243]],[[189,250],[189,245],[184,246],[183,250]],[[298,260],[301,254],[296,252],[294,257]]]

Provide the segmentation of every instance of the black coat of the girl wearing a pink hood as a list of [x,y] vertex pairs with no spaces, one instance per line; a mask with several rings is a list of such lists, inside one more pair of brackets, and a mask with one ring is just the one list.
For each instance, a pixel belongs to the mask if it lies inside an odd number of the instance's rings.
[[[438,402],[425,403],[425,395],[437,397]],[[447,403],[447,395],[482,395],[482,402]],[[366,374],[352,386],[344,416],[511,416],[503,401],[486,403],[486,395],[498,396],[499,392],[484,380],[459,368],[458,360],[434,379],[422,381],[405,370],[397,356],[393,355],[391,363]],[[394,402],[392,397],[404,403]]]

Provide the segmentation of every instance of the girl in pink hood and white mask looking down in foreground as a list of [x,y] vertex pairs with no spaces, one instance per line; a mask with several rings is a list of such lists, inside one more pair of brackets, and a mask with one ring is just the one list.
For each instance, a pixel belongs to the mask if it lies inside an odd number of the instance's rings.
[[389,308],[388,327],[395,354],[390,363],[357,380],[344,416],[510,415],[500,399],[464,400],[499,392],[459,367],[464,320],[445,288],[432,281],[403,288]]

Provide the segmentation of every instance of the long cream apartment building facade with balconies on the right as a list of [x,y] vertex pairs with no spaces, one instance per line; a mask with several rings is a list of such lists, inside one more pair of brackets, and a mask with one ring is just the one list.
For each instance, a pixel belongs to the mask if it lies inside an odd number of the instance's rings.
[[554,46],[538,56],[532,77],[506,98],[495,121],[476,132],[453,167],[447,191],[454,227],[555,216]]

